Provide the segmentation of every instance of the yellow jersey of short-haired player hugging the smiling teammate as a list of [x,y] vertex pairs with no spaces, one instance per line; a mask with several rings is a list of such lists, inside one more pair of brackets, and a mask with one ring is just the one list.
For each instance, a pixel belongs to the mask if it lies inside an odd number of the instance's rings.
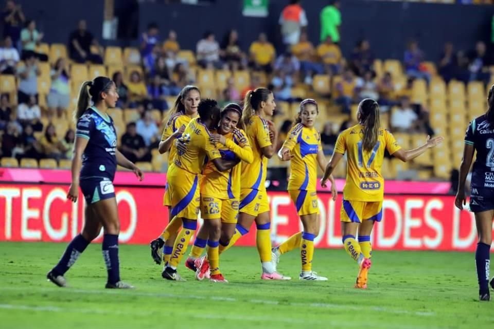
[[209,130],[199,118],[190,120],[180,137],[187,151],[182,153],[177,150],[173,165],[191,174],[199,175],[207,161],[221,158],[218,149],[209,141],[209,136]]

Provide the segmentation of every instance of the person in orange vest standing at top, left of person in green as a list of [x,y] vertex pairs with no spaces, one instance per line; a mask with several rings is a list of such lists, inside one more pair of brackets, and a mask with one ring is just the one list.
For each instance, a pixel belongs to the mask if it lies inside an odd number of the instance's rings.
[[279,16],[278,24],[283,43],[288,49],[298,42],[301,32],[305,32],[308,25],[307,15],[300,3],[301,0],[290,0],[290,4],[281,11]]

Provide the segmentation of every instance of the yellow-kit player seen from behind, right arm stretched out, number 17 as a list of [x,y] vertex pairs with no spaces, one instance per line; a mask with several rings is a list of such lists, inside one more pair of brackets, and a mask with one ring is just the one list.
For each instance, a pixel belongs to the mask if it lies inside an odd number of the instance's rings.
[[[371,233],[374,222],[382,218],[384,179],[381,174],[384,151],[403,162],[410,161],[427,149],[443,141],[443,137],[427,137],[419,148],[403,151],[393,135],[380,127],[379,105],[375,100],[364,99],[358,107],[359,124],[343,131],[336,142],[321,186],[326,187],[329,175],[343,155],[347,155],[346,184],[341,207],[343,245],[350,257],[357,261],[359,274],[356,288],[367,287],[367,274],[371,267]],[[358,231],[358,240],[355,240]]]

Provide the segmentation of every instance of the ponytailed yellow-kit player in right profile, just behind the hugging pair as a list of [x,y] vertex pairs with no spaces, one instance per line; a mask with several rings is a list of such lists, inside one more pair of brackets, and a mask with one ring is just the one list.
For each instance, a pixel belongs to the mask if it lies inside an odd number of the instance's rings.
[[252,163],[241,162],[240,205],[235,233],[227,246],[220,246],[220,253],[230,248],[249,232],[256,222],[256,245],[262,266],[262,280],[289,280],[276,272],[271,262],[271,220],[268,194],[266,193],[266,167],[275,151],[276,132],[266,118],[273,115],[276,103],[267,88],[250,90],[245,95],[242,121],[252,148]]

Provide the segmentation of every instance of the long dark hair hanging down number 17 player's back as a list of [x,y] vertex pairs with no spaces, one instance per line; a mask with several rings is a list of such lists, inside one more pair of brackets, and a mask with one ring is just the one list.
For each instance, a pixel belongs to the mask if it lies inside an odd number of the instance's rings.
[[365,151],[371,151],[379,138],[379,105],[373,99],[366,98],[359,104],[359,123],[364,126],[362,145]]

